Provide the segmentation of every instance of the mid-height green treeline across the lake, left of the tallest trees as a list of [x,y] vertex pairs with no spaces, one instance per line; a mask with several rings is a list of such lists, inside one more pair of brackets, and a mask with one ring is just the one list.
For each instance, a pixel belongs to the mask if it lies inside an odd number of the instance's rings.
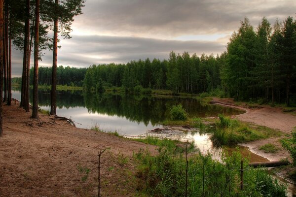
[[187,52],[170,53],[169,60],[149,59],[124,64],[93,65],[85,75],[86,89],[98,88],[101,81],[107,87],[124,87],[133,91],[136,86],[151,89],[168,89],[175,93],[202,93],[219,87],[221,60],[213,55]]

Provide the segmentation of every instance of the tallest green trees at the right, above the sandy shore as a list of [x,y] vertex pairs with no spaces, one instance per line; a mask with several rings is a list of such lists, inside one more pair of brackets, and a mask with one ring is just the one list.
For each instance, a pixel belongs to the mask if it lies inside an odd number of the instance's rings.
[[245,18],[232,34],[220,68],[222,87],[236,99],[296,102],[296,21],[271,27],[263,17],[256,30]]

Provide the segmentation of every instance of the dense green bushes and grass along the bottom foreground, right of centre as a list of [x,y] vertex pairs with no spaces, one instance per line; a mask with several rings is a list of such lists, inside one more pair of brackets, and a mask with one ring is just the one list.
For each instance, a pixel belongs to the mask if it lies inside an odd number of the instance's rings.
[[[151,156],[141,150],[134,155],[138,161],[138,188],[150,196],[181,197],[185,195],[185,154],[175,155],[165,146]],[[286,188],[273,180],[267,170],[248,167],[244,161],[244,190],[239,190],[241,156],[222,156],[222,163],[210,155],[191,155],[188,158],[188,197],[285,197]]]

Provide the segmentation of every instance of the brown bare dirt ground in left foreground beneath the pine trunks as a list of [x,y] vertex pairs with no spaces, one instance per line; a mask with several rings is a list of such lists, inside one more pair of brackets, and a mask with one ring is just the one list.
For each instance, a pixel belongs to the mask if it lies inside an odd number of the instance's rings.
[[[102,156],[102,196],[134,196],[137,181],[133,153],[155,147],[107,133],[74,128],[66,121],[3,106],[0,138],[0,197],[83,197],[97,194],[97,166]],[[86,181],[82,177],[90,169]],[[82,172],[79,172],[82,170]]]

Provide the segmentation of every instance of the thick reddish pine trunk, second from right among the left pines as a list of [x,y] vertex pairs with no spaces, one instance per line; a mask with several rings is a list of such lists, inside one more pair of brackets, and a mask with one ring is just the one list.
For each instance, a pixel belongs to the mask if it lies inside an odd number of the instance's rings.
[[39,0],[35,6],[35,36],[34,36],[34,88],[32,118],[38,119],[38,46],[39,46]]

